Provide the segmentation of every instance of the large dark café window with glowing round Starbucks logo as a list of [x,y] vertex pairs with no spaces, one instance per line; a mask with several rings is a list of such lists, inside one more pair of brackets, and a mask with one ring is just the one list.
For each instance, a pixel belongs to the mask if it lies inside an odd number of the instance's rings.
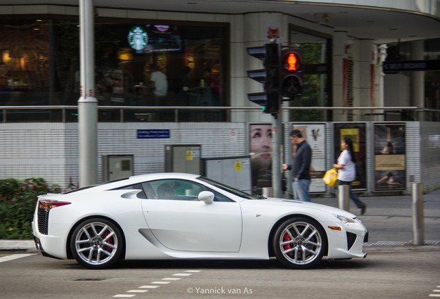
[[[127,20],[126,20],[127,21]],[[0,21],[1,105],[77,105],[77,20]],[[220,107],[225,98],[226,27],[210,24],[97,22],[95,97],[100,106]],[[50,114],[44,114],[47,117]],[[23,117],[23,116],[22,116]],[[100,121],[118,121],[100,113]],[[126,121],[169,121],[167,113],[131,113]],[[185,121],[221,121],[221,111],[186,111]],[[77,116],[69,114],[68,120]]]

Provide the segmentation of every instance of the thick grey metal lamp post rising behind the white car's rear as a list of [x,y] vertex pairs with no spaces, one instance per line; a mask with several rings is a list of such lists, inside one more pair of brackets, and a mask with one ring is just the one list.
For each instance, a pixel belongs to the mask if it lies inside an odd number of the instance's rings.
[[78,135],[80,186],[98,183],[98,101],[95,98],[95,38],[93,0],[80,0],[80,99]]

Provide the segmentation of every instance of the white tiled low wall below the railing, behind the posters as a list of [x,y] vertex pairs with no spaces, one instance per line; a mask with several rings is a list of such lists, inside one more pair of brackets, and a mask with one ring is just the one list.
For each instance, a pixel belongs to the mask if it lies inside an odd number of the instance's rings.
[[[284,127],[290,128],[291,123],[284,123]],[[333,126],[329,123],[326,127],[327,156],[331,161]],[[138,129],[169,129],[170,135],[137,138]],[[367,191],[371,191],[374,154],[369,152],[374,151],[374,123],[367,123],[366,129]],[[440,188],[439,132],[440,123],[406,122],[405,193],[410,194],[412,182],[422,182],[425,191]],[[134,155],[134,174],[163,172],[165,145],[201,145],[201,158],[246,156],[248,135],[247,123],[99,123],[98,180],[102,181],[102,155]],[[289,142],[287,129],[284,144]],[[70,177],[73,183],[79,181],[77,123],[0,123],[0,143],[0,178],[42,177],[62,188],[66,188]],[[282,163],[288,157],[286,152]]]

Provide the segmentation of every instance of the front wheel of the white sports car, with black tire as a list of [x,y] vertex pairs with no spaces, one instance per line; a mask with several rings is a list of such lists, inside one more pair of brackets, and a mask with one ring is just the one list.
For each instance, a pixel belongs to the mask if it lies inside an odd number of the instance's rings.
[[320,224],[293,217],[280,224],[273,237],[277,260],[291,269],[310,269],[327,253],[327,235]]

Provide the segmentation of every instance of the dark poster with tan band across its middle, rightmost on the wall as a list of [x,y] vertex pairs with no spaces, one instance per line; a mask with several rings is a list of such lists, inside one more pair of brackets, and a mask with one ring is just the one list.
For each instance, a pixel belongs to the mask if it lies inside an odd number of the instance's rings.
[[404,190],[405,124],[374,124],[376,190]]

